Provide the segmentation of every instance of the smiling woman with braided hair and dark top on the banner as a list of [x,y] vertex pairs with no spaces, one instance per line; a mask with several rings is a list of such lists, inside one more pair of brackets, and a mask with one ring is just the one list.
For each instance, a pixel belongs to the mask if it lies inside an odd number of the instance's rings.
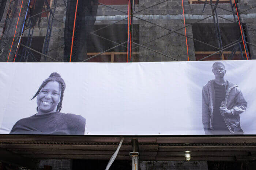
[[37,96],[37,114],[20,119],[10,134],[84,135],[82,116],[60,112],[65,87],[60,74],[50,74],[32,98]]

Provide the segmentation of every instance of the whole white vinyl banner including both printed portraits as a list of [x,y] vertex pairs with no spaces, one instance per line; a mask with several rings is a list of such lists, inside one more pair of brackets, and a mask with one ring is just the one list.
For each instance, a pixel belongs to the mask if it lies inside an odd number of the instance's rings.
[[256,134],[255,75],[255,60],[0,63],[0,134]]

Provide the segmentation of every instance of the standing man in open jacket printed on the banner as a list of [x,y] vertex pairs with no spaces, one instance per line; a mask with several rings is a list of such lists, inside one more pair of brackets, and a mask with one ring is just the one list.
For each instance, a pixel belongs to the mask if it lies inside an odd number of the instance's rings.
[[202,91],[202,122],[206,135],[243,134],[240,114],[247,102],[236,84],[225,80],[223,63],[212,64],[215,79],[210,80]]

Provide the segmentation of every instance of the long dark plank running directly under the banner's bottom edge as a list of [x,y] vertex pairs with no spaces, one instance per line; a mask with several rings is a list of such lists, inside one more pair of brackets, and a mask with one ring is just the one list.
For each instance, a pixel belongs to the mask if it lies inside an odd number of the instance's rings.
[[[256,136],[226,136],[226,137],[125,137],[123,143],[131,143],[131,139],[136,138],[140,143],[256,143]],[[23,142],[91,142],[91,143],[119,143],[120,137],[106,136],[40,136],[40,135],[0,135],[1,142],[23,143]]]

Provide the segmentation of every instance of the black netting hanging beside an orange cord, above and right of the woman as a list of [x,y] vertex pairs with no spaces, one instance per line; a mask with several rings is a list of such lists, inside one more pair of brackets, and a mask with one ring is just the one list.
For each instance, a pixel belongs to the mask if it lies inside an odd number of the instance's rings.
[[[76,9],[76,0],[67,3],[67,15],[65,21],[65,47],[64,61],[69,61],[71,53],[72,33],[74,28],[74,18]],[[72,62],[87,59],[86,43],[90,31],[96,20],[98,9],[98,0],[78,1],[76,14],[74,43],[72,49]]]

